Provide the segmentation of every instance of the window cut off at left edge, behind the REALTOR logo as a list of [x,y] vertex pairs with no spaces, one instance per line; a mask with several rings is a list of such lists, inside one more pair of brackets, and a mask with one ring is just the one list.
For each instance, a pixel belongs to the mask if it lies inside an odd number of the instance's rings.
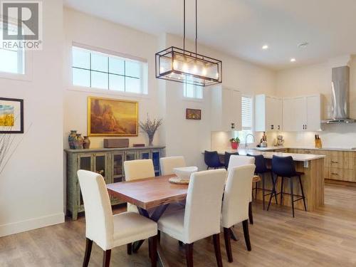
[[[17,27],[8,24],[9,31],[17,33]],[[0,27],[0,42],[3,43],[3,29]],[[21,48],[6,48],[0,46],[0,72],[25,73],[25,53]]]

